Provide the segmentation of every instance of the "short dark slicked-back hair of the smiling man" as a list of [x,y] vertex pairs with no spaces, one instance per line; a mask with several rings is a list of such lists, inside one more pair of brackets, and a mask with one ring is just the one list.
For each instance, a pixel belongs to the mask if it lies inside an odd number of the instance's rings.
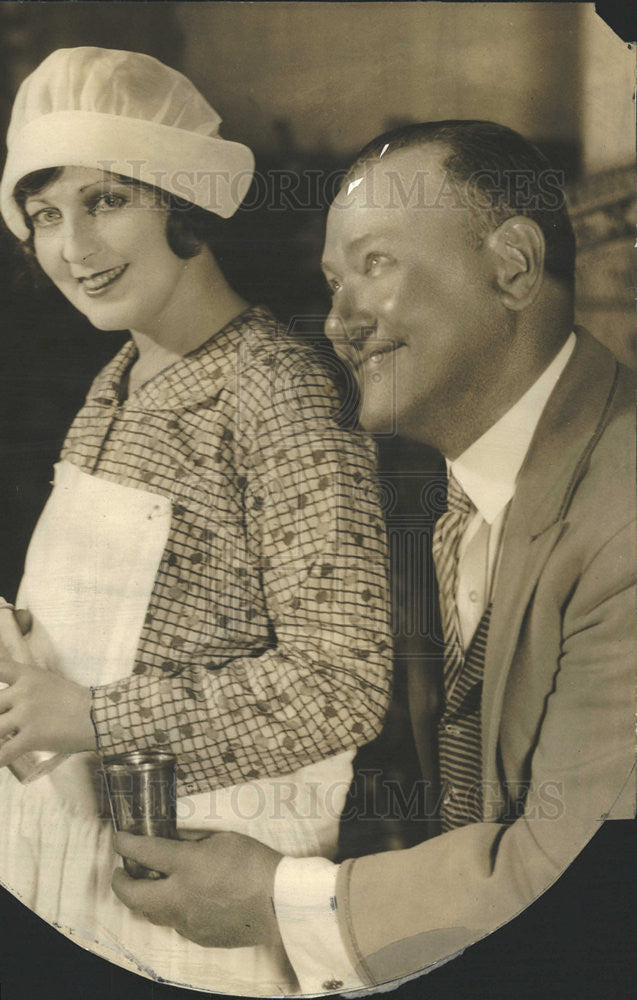
[[368,143],[343,183],[381,155],[432,144],[442,147],[442,169],[470,210],[477,245],[506,219],[515,215],[533,219],[544,234],[545,271],[571,287],[575,237],[562,190],[563,174],[533,143],[505,125],[459,119],[400,126]]

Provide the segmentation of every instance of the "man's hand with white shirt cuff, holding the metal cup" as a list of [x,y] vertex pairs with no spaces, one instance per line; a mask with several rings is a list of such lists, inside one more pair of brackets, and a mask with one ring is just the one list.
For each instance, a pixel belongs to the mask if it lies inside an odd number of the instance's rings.
[[113,873],[131,910],[174,927],[203,947],[281,945],[302,993],[362,986],[343,944],[334,905],[338,865],[326,858],[282,858],[256,840],[218,833],[196,842],[119,833],[125,857],[164,874]]

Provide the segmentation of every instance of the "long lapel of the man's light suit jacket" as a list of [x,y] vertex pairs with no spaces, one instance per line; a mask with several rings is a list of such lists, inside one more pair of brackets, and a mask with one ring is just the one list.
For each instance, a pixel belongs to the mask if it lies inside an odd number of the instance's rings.
[[[586,331],[577,332],[573,355],[520,470],[502,537],[482,695],[483,776],[489,789],[498,787],[502,704],[522,621],[551,550],[568,530],[570,500],[605,426],[617,373],[610,352]],[[492,819],[497,808],[497,795],[491,803],[485,795],[485,819]]]

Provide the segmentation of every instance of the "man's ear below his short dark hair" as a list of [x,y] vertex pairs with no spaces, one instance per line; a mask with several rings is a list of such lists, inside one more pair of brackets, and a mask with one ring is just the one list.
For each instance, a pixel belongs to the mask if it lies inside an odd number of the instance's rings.
[[506,219],[487,237],[496,261],[502,302],[516,312],[535,301],[544,277],[544,234],[523,215]]

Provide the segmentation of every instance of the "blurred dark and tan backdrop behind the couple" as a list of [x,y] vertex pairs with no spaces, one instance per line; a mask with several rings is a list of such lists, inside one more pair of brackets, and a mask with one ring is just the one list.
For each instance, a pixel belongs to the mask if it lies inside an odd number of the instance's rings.
[[[228,224],[223,266],[244,295],[310,328],[326,311],[318,271],[325,206],[353,154],[409,121],[476,117],[512,126],[565,172],[578,239],[578,320],[635,364],[634,52],[593,4],[5,2],[2,134],[24,76],[54,49],[74,45],[167,62],[221,114],[225,137],[252,146],[260,187],[248,196],[250,211]],[[10,599],[65,431],[124,335],[93,330],[55,289],[34,287],[4,232],[0,261],[0,593]],[[380,448],[395,569],[396,696],[385,733],[359,757],[345,854],[428,832],[418,800],[395,800],[397,788],[408,797],[418,773],[406,747],[404,665],[435,655],[433,520],[420,497],[440,458],[395,441]],[[365,825],[369,794],[375,818]]]

